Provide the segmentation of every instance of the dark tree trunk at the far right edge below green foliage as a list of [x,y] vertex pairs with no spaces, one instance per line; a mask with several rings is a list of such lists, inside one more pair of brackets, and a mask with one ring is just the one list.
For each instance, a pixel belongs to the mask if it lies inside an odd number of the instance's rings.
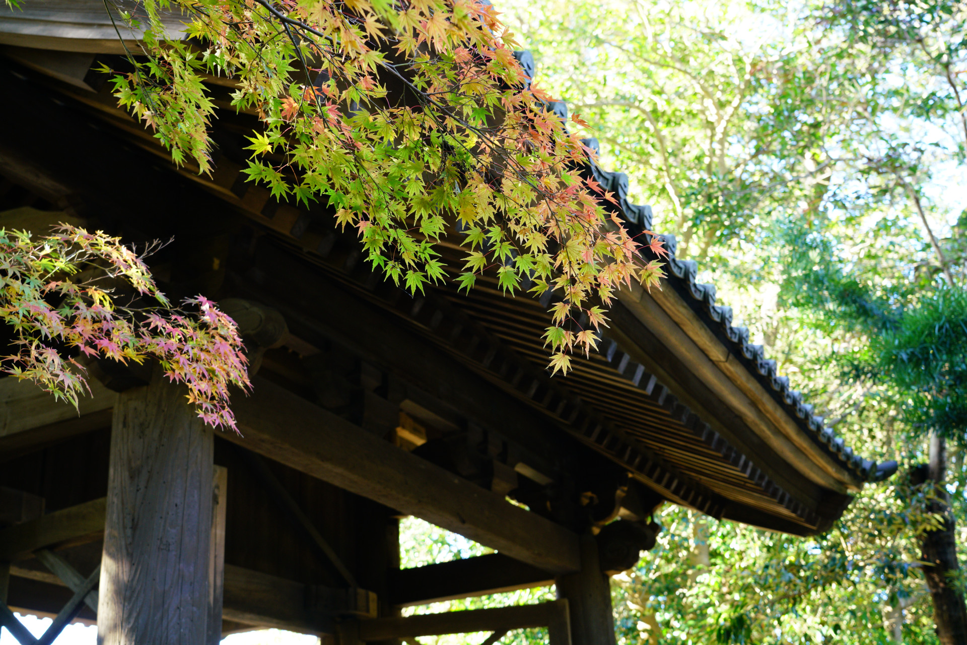
[[944,526],[937,531],[927,531],[921,537],[922,559],[926,586],[933,600],[934,622],[937,636],[943,645],[967,643],[967,607],[964,599],[952,585],[951,577],[959,571],[953,516],[948,505],[949,497],[944,487],[947,454],[944,439],[930,435],[930,462],[926,467],[928,482],[936,484],[938,501],[930,505],[933,513],[944,513]]

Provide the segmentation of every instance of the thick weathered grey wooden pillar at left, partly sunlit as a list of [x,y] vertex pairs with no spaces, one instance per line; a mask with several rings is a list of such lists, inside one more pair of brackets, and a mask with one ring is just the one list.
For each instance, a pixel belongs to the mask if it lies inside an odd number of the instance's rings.
[[114,408],[100,645],[209,638],[215,443],[186,394],[156,370]]

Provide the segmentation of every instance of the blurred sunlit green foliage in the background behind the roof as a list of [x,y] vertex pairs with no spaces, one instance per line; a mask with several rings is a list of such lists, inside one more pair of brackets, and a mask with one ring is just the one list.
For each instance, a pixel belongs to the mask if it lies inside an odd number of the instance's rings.
[[542,87],[592,126],[601,165],[629,174],[632,201],[826,424],[900,462],[813,538],[664,508],[659,545],[613,578],[619,641],[937,643],[918,536],[939,518],[907,473],[928,430],[952,440],[963,544],[967,3],[498,9]]

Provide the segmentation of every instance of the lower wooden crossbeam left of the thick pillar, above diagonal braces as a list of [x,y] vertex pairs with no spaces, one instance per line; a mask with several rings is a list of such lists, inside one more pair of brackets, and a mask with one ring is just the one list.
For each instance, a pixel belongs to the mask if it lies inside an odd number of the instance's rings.
[[0,561],[29,558],[39,548],[98,540],[105,508],[102,497],[0,531]]

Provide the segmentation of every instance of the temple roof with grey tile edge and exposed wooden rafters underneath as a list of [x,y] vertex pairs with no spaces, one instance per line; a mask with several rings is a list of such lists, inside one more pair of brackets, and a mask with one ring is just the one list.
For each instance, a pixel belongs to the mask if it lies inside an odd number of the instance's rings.
[[[25,5],[24,12],[30,6]],[[58,19],[64,21],[65,15]],[[242,172],[244,136],[257,126],[253,115],[220,110],[213,126],[218,150],[212,176],[201,176],[190,165],[175,166],[158,140],[117,107],[103,74],[99,76],[95,70],[94,57],[76,53],[97,52],[100,65],[115,45],[100,44],[103,39],[98,34],[85,37],[76,32],[44,32],[43,37],[24,40],[22,24],[0,15],[0,43],[20,45],[5,50],[16,62],[4,64],[11,71],[4,82],[12,92],[33,97],[12,102],[10,109],[49,97],[53,103],[65,105],[65,115],[99,132],[96,136],[89,129],[50,133],[59,136],[58,154],[97,160],[91,163],[114,167],[122,174],[133,168],[151,168],[164,173],[169,178],[164,181],[179,187],[177,191],[183,191],[186,199],[207,193],[218,200],[222,210],[258,230],[259,239],[267,241],[265,257],[276,259],[259,269],[261,273],[240,274],[239,280],[249,285],[247,297],[257,294],[290,319],[309,320],[307,336],[324,335],[323,323],[307,317],[308,309],[293,308],[291,303],[297,299],[283,298],[282,289],[265,288],[259,275],[281,271],[282,266],[301,267],[293,270],[304,272],[298,286],[307,294],[345,291],[350,295],[343,302],[378,309],[380,315],[395,321],[398,333],[430,343],[450,357],[454,366],[482,376],[509,396],[510,402],[501,405],[519,410],[514,413],[516,419],[527,419],[513,424],[528,426],[517,428],[524,434],[530,426],[546,425],[547,432],[561,437],[562,445],[573,444],[603,455],[662,498],[717,518],[795,534],[823,531],[845,509],[852,499],[850,493],[864,482],[894,472],[895,463],[877,465],[844,447],[822,418],[812,414],[800,393],[790,389],[788,378],[777,375],[776,363],[766,359],[762,347],[748,342],[747,330],[732,326],[731,309],[716,304],[715,287],[697,283],[697,264],[675,257],[673,237],[665,238],[670,257],[661,289],[649,293],[634,285],[622,290],[609,313],[610,327],[601,335],[601,352],[574,361],[569,376],[552,377],[541,341],[550,320],[547,307],[552,293],[540,301],[526,295],[509,296],[498,288],[496,279],[487,276],[468,295],[458,293],[455,284],[416,296],[386,284],[360,261],[355,235],[335,228],[328,207],[278,202],[266,189],[246,181]],[[516,55],[533,70],[533,57],[527,52]],[[11,81],[13,78],[16,80]],[[212,79],[209,88],[217,100],[227,96],[226,82]],[[559,113],[566,110],[563,103],[551,108]],[[587,143],[595,146],[597,142]],[[34,150],[31,145],[25,144],[16,154],[43,153],[42,146]],[[0,157],[3,154],[0,150]],[[43,156],[36,160],[39,164],[48,161]],[[88,181],[81,180],[78,166],[71,168],[57,181],[71,187],[78,200],[95,203],[102,199],[104,190],[98,182],[117,185],[117,180],[103,179],[107,171],[101,172],[100,167]],[[14,161],[0,163],[0,170],[12,181],[30,181],[15,176]],[[608,172],[597,164],[589,164],[584,171],[618,197],[613,208],[632,234],[651,227],[651,208],[628,200],[625,174]],[[161,180],[135,173],[127,181],[132,187],[140,185],[142,191],[151,191],[153,182]],[[462,265],[462,252],[456,245],[444,245],[442,252],[451,266]],[[351,327],[340,334],[364,331]],[[376,353],[367,360],[404,379],[411,376],[406,371],[409,366],[393,363],[394,356]],[[454,410],[457,416],[461,412]],[[502,436],[506,445],[523,446],[524,434],[514,434],[517,429],[491,427],[488,432]],[[477,450],[476,444],[472,450]],[[523,457],[504,451],[487,458],[503,459],[504,465],[517,472],[531,472],[524,477],[535,482],[546,479],[553,486],[567,478],[567,470],[555,466],[553,458],[537,453],[540,451]],[[542,459],[545,472],[534,475],[541,468],[532,466]]]

